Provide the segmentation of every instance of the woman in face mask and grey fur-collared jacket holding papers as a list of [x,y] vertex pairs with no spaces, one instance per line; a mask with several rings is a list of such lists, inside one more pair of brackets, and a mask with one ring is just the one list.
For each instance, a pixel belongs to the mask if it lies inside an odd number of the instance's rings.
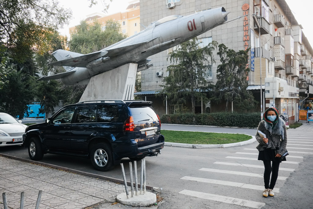
[[[259,142],[256,147],[259,150],[258,160],[263,160],[264,163],[265,190],[263,196],[274,196],[273,189],[278,177],[279,164],[282,160],[286,160],[285,158],[281,159],[281,155],[285,152],[287,145],[285,121],[279,117],[279,112],[275,107],[265,110],[258,131],[266,135],[266,138],[260,137],[259,132],[255,135],[256,140]],[[272,177],[270,179],[271,173]]]

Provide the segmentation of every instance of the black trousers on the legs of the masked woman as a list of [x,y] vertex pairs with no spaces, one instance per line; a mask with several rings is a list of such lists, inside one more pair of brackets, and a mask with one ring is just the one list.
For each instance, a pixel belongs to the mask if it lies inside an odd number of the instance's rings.
[[[278,169],[279,169],[279,162],[272,162],[270,160],[263,160],[264,164],[264,186],[265,189],[274,189],[274,186],[276,184],[276,180],[278,177]],[[270,175],[272,173],[272,178],[270,179]],[[271,182],[269,183],[269,179]]]

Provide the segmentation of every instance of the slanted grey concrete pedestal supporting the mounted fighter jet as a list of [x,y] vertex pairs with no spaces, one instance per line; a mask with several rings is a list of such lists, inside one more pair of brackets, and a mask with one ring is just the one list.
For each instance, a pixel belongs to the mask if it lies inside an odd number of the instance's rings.
[[133,100],[137,64],[128,63],[91,77],[81,101],[121,99]]

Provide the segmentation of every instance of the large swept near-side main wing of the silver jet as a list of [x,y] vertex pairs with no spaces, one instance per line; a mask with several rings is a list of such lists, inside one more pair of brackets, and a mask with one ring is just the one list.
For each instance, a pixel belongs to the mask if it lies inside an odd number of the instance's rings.
[[87,55],[81,55],[78,57],[73,57],[65,60],[59,60],[56,62],[51,62],[49,65],[57,65],[57,66],[70,66],[70,67],[86,67],[87,63],[106,55],[107,51],[97,51]]

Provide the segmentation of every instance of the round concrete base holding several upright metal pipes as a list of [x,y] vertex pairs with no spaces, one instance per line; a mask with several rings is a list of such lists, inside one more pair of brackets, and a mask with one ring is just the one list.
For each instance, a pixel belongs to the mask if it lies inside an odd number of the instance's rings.
[[129,194],[128,197],[127,199],[126,192],[124,192],[116,196],[116,201],[128,206],[151,206],[156,203],[156,194],[148,191],[143,195],[136,196],[134,194],[133,197]]

